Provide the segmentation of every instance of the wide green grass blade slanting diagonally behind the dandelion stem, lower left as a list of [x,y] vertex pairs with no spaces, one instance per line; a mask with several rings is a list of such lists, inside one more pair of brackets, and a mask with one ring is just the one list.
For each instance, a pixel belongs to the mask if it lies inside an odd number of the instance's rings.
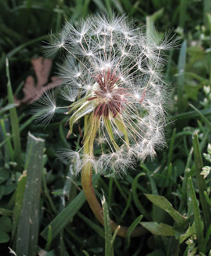
[[[95,175],[93,177],[93,185],[96,184],[99,176]],[[85,203],[86,198],[84,192],[81,191],[77,197],[75,197],[70,204],[57,215],[52,222],[49,224],[52,227],[52,240],[65,228],[66,225],[71,221],[75,214],[79,211],[82,205]],[[47,240],[49,225],[41,232],[41,236]]]

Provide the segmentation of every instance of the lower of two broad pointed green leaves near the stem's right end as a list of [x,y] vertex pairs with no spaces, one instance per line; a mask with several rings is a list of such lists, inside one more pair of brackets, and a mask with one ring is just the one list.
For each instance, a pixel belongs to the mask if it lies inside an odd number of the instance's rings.
[[141,225],[156,236],[175,236],[175,229],[164,223],[141,222]]

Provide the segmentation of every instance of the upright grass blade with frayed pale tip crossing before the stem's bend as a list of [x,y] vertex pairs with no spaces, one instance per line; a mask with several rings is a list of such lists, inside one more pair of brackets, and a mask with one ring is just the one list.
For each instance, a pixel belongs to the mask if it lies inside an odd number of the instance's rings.
[[114,256],[113,245],[112,245],[112,234],[111,234],[111,221],[105,196],[101,199],[103,216],[104,216],[104,227],[105,227],[105,256]]

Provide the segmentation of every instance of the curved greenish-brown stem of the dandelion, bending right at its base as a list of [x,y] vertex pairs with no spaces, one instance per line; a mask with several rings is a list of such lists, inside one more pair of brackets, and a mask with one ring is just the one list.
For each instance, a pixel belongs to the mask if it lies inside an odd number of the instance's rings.
[[[85,124],[84,124],[84,131],[86,132],[88,129],[88,119],[92,122],[95,122],[94,118],[85,118]],[[86,136],[85,142],[84,142],[84,151],[86,154],[92,154],[93,152],[93,140],[97,129],[97,123],[96,120],[95,127],[92,127],[92,133],[90,136]],[[94,213],[95,217],[99,220],[99,222],[104,226],[104,217],[103,217],[103,209],[95,195],[93,184],[92,184],[92,166],[88,162],[84,165],[82,168],[82,174],[81,174],[81,184],[82,188],[85,194],[85,197],[88,201],[88,204]],[[116,222],[111,220],[111,231],[114,233],[119,225],[117,225]],[[121,226],[119,229],[119,232],[117,233],[118,236],[126,237],[128,231],[128,227]],[[131,237],[135,236],[141,236],[145,234],[147,231],[143,227],[139,226],[136,227],[133,232],[131,233]]]

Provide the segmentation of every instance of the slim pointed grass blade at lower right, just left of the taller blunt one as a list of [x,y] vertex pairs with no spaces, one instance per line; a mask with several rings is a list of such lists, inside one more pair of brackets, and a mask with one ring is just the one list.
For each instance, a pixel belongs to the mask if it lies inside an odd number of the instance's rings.
[[198,207],[198,201],[195,196],[195,191],[193,188],[193,182],[192,178],[188,178],[188,184],[191,190],[191,200],[193,204],[193,213],[194,213],[194,220],[195,220],[195,228],[196,228],[196,233],[198,237],[198,248],[200,252],[204,252],[204,236],[203,236],[203,227],[202,227],[202,220],[200,217],[200,210]]

